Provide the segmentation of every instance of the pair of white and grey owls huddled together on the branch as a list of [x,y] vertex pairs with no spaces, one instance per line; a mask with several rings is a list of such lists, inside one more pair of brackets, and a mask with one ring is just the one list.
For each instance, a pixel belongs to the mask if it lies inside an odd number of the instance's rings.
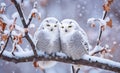
[[[88,54],[87,34],[73,19],[64,19],[61,23],[54,17],[45,18],[35,32],[36,49],[47,54],[63,52],[73,60]],[[49,68],[54,61],[40,61],[41,68]]]

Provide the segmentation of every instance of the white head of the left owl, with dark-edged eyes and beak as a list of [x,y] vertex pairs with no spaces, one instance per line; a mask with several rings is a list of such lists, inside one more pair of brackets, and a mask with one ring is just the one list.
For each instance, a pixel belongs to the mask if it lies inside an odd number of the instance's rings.
[[45,18],[40,25],[40,30],[45,30],[48,32],[58,32],[59,29],[59,21],[54,17]]

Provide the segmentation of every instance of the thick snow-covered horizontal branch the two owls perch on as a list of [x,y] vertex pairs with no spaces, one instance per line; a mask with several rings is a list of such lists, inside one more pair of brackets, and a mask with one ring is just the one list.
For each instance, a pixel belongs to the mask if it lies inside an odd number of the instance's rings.
[[63,53],[57,53],[57,55],[52,56],[52,55],[47,55],[44,53],[39,53],[38,57],[35,57],[33,54],[32,50],[28,50],[26,52],[15,52],[16,56],[13,56],[11,52],[5,51],[1,58],[6,61],[11,61],[15,63],[20,63],[20,62],[32,62],[34,59],[37,61],[48,61],[48,60],[53,60],[53,61],[59,61],[59,62],[64,62],[64,63],[71,63],[71,64],[81,64],[81,65],[86,65],[86,66],[93,66],[105,70],[110,70],[114,72],[120,72],[120,63],[114,62],[108,59],[103,59],[95,56],[89,56],[89,55],[84,55],[82,59],[80,60],[72,60],[71,58],[68,58],[66,55]]

